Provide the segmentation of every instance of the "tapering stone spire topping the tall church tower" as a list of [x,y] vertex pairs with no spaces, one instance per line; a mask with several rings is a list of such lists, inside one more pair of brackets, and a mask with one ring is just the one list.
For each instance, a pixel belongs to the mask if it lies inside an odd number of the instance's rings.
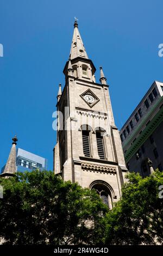
[[78,23],[77,23],[77,21],[75,21],[72,45],[71,45],[71,51],[70,51],[70,58],[75,59],[77,57],[82,57],[82,58],[88,59],[82,38],[81,38],[79,30],[78,30]]

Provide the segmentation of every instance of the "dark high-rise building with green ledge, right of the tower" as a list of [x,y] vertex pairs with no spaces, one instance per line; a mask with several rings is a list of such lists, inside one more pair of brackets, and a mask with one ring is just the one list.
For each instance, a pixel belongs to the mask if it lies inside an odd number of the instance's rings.
[[142,176],[163,168],[163,83],[154,81],[123,125],[121,141],[127,167]]

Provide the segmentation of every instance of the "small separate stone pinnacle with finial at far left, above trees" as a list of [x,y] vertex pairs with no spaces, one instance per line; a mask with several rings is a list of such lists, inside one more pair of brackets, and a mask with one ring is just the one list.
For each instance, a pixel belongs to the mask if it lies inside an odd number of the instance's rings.
[[9,177],[9,176],[13,176],[16,173],[16,144],[17,144],[16,135],[14,138],[12,138],[12,141],[13,142],[12,142],[10,155],[1,176]]

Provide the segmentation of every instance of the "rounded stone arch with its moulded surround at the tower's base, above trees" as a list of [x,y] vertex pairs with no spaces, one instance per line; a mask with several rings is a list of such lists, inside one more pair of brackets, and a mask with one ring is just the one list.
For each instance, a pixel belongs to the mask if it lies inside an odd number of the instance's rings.
[[112,209],[112,199],[115,197],[112,187],[103,180],[93,181],[90,185],[90,189],[95,189],[101,197],[103,203]]

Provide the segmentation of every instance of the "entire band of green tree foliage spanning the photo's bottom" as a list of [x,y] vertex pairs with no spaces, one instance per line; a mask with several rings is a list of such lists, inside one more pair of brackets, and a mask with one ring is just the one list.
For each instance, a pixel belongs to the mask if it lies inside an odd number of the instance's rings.
[[[163,244],[163,173],[129,173],[108,210],[96,191],[39,170],[0,178],[0,237],[8,245]],[[161,188],[161,190],[163,190]]]

